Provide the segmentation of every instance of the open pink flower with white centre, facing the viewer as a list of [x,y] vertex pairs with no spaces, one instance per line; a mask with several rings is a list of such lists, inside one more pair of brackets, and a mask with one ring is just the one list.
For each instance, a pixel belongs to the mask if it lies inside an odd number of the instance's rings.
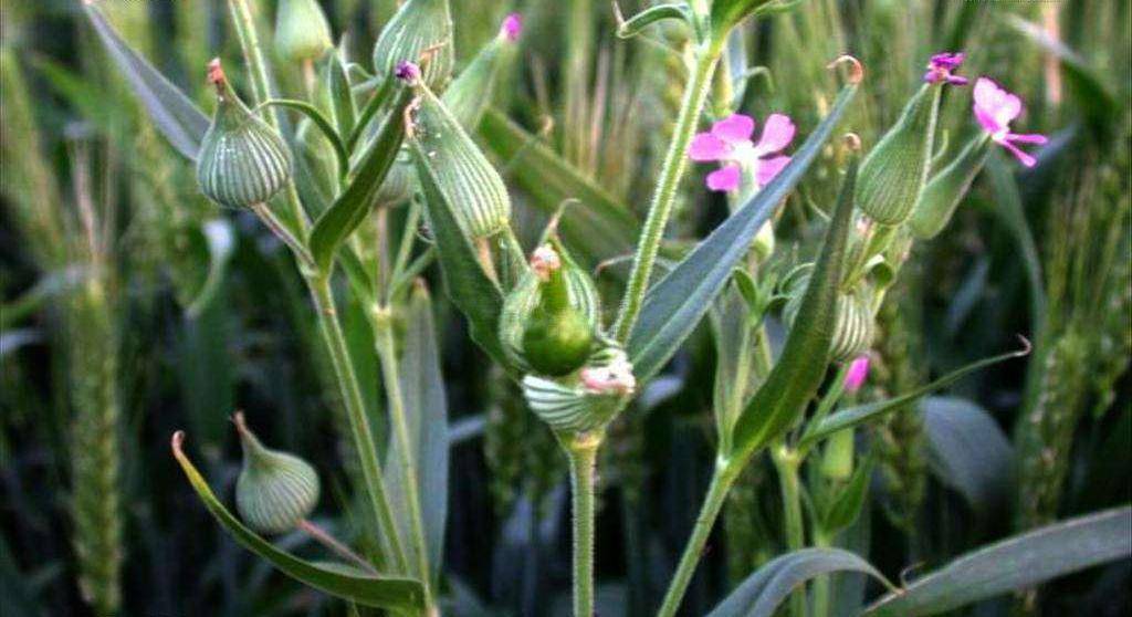
[[719,161],[723,166],[707,174],[707,188],[729,191],[739,188],[744,173],[754,179],[756,188],[766,186],[790,162],[781,151],[794,139],[794,122],[781,113],[766,118],[763,134],[755,144],[755,120],[732,113],[712,125],[707,132],[692,138],[688,156],[693,161]]

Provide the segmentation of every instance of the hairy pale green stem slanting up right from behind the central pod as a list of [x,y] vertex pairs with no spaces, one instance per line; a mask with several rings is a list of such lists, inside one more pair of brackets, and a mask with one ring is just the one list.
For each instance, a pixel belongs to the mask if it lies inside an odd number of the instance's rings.
[[633,272],[629,274],[628,288],[621,301],[620,315],[614,327],[615,336],[621,343],[628,340],[633,324],[636,323],[637,315],[641,312],[641,303],[644,301],[644,292],[649,286],[649,277],[652,276],[657,251],[660,250],[660,241],[664,235],[668,217],[672,213],[676,189],[679,187],[685,168],[687,168],[688,144],[692,142],[692,135],[696,130],[704,102],[711,91],[711,77],[719,61],[719,54],[720,43],[718,42],[701,43],[696,51],[695,67],[688,76],[688,83],[684,89],[684,102],[680,103],[680,113],[676,119],[672,142],[668,145],[668,153],[664,154],[660,181],[653,194],[652,204],[649,206],[649,217],[644,222],[641,241],[633,258]]

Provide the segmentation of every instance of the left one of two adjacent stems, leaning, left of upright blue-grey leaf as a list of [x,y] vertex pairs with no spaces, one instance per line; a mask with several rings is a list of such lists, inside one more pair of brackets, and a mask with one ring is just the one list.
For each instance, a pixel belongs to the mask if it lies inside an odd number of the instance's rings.
[[361,389],[358,387],[358,377],[354,375],[353,365],[350,361],[345,336],[343,336],[342,327],[338,325],[329,278],[314,275],[307,278],[307,284],[310,286],[315,300],[318,328],[331,354],[331,365],[342,391],[342,401],[350,420],[350,432],[353,434],[354,449],[358,451],[358,456],[361,459],[366,491],[369,494],[370,504],[377,516],[381,538],[386,541],[388,558],[400,572],[405,572],[405,554],[401,547],[397,528],[394,524],[393,508],[389,507],[388,496],[385,491],[381,464],[377,460],[377,444],[374,443],[374,434],[369,428],[369,420],[366,418],[366,406],[361,399]]

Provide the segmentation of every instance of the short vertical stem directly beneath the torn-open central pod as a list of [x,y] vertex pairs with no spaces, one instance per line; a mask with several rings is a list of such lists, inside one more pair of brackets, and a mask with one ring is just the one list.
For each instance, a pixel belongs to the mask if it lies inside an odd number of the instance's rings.
[[602,432],[582,434],[564,443],[574,509],[574,617],[593,615],[593,480],[603,438]]

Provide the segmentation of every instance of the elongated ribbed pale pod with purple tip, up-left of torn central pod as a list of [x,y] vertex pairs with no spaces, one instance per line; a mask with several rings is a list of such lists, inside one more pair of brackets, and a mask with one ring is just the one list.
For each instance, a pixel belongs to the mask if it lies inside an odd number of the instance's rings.
[[[511,197],[499,172],[432,91],[418,84],[415,118],[406,134],[417,164],[426,169],[472,239],[503,231]],[[422,175],[423,177],[423,175]]]

